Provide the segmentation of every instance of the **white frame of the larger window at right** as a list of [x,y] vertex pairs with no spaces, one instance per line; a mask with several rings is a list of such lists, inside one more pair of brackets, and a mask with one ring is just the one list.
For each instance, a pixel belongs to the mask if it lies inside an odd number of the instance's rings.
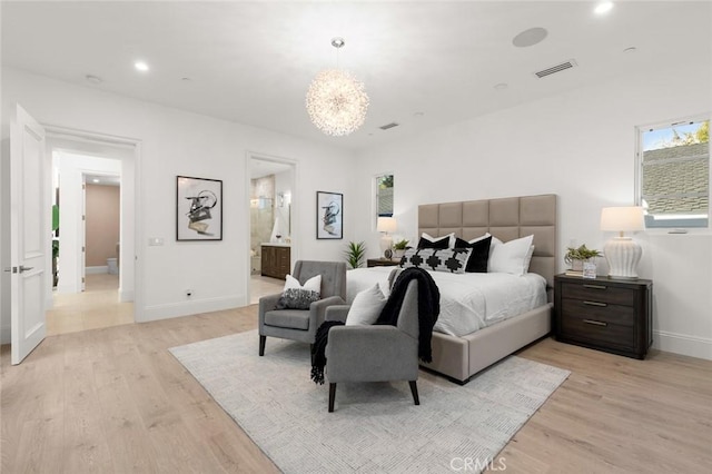
[[[709,121],[711,117],[709,115],[696,115],[685,117],[679,120],[665,120],[662,122],[655,122],[650,125],[642,125],[635,127],[635,205],[643,206],[643,172],[644,172],[644,162],[643,162],[643,137],[644,134],[662,130],[668,128],[674,128],[676,126],[683,126],[685,124],[699,124],[703,121]],[[710,151],[708,150],[706,159],[708,159],[708,208],[706,208],[706,217],[680,217],[680,218],[655,218],[654,215],[649,215],[645,211],[645,227],[647,229],[661,229],[661,230],[670,230],[670,229],[709,229],[710,228],[710,195],[712,194],[712,167],[710,166],[711,157]],[[703,157],[700,156],[700,157]],[[693,159],[700,159],[700,157],[681,157],[681,158],[670,158],[664,159],[663,162],[673,162],[673,161],[686,161]]]

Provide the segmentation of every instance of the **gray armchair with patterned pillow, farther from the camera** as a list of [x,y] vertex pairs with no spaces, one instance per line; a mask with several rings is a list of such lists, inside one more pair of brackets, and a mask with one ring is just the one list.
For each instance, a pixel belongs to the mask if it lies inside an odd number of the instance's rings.
[[276,309],[280,294],[259,298],[260,356],[265,355],[267,336],[314,344],[326,308],[346,303],[346,263],[298,260],[291,273],[301,285],[316,275],[322,275],[322,299],[312,303],[309,309]]

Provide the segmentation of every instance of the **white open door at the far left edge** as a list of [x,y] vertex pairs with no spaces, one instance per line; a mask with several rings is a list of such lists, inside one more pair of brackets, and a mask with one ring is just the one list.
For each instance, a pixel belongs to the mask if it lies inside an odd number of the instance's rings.
[[44,129],[20,106],[10,125],[11,353],[19,364],[47,333],[44,292],[50,246]]

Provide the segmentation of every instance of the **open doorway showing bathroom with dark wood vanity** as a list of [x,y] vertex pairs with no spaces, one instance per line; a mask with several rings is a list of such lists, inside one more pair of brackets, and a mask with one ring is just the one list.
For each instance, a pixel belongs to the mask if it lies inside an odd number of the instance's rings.
[[296,164],[286,158],[250,155],[249,303],[279,293],[291,271],[295,248]]

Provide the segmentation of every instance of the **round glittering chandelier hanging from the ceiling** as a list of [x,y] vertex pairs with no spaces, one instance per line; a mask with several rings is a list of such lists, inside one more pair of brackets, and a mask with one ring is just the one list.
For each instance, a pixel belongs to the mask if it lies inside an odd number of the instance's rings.
[[307,91],[307,112],[312,122],[322,131],[335,137],[349,135],[364,125],[368,110],[368,96],[364,83],[349,72],[338,69],[338,50],[346,42],[332,39],[337,51],[337,69],[326,69],[316,75]]

